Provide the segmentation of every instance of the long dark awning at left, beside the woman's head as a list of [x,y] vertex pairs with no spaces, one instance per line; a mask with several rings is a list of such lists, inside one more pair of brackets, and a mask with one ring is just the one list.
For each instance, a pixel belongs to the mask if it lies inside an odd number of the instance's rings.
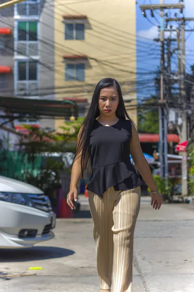
[[0,97],[0,109],[9,117],[17,114],[16,118],[29,114],[33,117],[52,116],[68,119],[78,117],[78,106],[69,100],[43,100],[17,97]]

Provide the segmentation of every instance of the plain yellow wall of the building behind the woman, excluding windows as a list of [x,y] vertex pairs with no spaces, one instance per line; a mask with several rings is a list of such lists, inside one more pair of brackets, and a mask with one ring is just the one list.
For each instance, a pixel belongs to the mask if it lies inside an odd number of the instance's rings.
[[[87,98],[90,102],[97,82],[115,78],[123,97],[136,101],[136,13],[134,0],[55,1],[55,98]],[[72,4],[69,4],[72,2]],[[85,39],[65,40],[64,15],[85,15]],[[65,81],[63,55],[87,55],[85,81]],[[127,107],[137,123],[137,110]],[[55,119],[55,128],[63,119]]]

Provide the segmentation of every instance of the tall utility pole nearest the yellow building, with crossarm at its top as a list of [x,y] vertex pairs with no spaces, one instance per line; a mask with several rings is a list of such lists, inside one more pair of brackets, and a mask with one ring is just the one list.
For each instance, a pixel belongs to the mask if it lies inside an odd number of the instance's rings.
[[146,10],[160,9],[160,42],[161,42],[161,98],[159,100],[159,121],[160,121],[160,175],[166,179],[168,184],[168,143],[167,143],[167,104],[164,96],[164,9],[183,9],[184,3],[164,4],[164,0],[160,0],[160,4],[140,5],[142,14],[146,17]]

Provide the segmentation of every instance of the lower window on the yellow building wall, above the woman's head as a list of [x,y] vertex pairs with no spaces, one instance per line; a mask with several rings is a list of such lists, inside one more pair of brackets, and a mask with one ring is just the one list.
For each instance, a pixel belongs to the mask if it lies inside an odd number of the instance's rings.
[[72,80],[85,80],[85,64],[65,64],[65,81]]

